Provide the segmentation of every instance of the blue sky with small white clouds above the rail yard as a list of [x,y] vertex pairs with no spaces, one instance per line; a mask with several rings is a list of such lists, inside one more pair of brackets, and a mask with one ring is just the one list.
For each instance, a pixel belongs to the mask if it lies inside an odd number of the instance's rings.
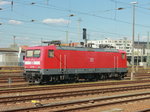
[[[132,40],[135,4],[135,41],[147,41],[149,0],[0,0],[0,48],[15,42],[41,45],[41,41]],[[122,10],[118,10],[118,8]]]

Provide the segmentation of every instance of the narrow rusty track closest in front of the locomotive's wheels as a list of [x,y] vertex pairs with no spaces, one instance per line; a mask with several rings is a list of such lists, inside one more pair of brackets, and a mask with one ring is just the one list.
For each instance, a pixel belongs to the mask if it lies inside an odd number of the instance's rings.
[[7,88],[0,89],[0,94],[4,93],[18,93],[18,92],[33,92],[33,91],[43,91],[43,90],[58,90],[58,89],[70,89],[70,88],[84,88],[84,87],[99,87],[99,86],[110,86],[110,85],[122,85],[122,84],[143,84],[149,83],[150,80],[140,80],[140,81],[121,81],[121,82],[100,82],[100,83],[87,83],[87,84],[70,84],[70,85],[49,85],[49,86],[31,86],[31,87],[20,87],[20,88]]

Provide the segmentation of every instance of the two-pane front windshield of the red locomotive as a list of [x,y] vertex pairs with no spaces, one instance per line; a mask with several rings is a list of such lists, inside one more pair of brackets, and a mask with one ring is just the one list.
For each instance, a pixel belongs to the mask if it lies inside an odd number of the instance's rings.
[[39,58],[40,57],[40,53],[41,53],[41,51],[39,49],[36,49],[36,50],[27,50],[26,51],[26,57],[27,58],[31,58],[31,57]]

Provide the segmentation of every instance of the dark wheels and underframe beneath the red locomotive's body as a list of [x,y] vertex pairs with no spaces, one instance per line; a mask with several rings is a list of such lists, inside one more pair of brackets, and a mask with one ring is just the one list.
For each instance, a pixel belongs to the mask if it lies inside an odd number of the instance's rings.
[[125,72],[116,73],[89,73],[89,74],[41,74],[40,72],[30,71],[26,72],[25,78],[29,83],[68,83],[68,82],[78,82],[78,81],[98,81],[98,80],[122,80],[126,76]]

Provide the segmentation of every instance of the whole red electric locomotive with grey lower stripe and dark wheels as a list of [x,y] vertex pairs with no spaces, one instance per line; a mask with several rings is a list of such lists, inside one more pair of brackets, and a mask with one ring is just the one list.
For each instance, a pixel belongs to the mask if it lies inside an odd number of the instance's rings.
[[26,50],[24,75],[29,82],[122,79],[126,52],[117,49],[36,46]]

